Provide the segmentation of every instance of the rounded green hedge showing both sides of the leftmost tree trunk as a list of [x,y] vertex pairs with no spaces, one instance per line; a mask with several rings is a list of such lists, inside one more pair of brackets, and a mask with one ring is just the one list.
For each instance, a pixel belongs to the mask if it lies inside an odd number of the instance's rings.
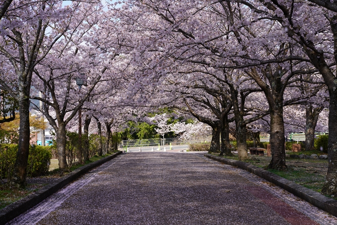
[[[0,146],[0,177],[10,178],[18,150],[17,145]],[[27,175],[40,176],[49,170],[52,153],[49,147],[31,146],[29,148]]]

